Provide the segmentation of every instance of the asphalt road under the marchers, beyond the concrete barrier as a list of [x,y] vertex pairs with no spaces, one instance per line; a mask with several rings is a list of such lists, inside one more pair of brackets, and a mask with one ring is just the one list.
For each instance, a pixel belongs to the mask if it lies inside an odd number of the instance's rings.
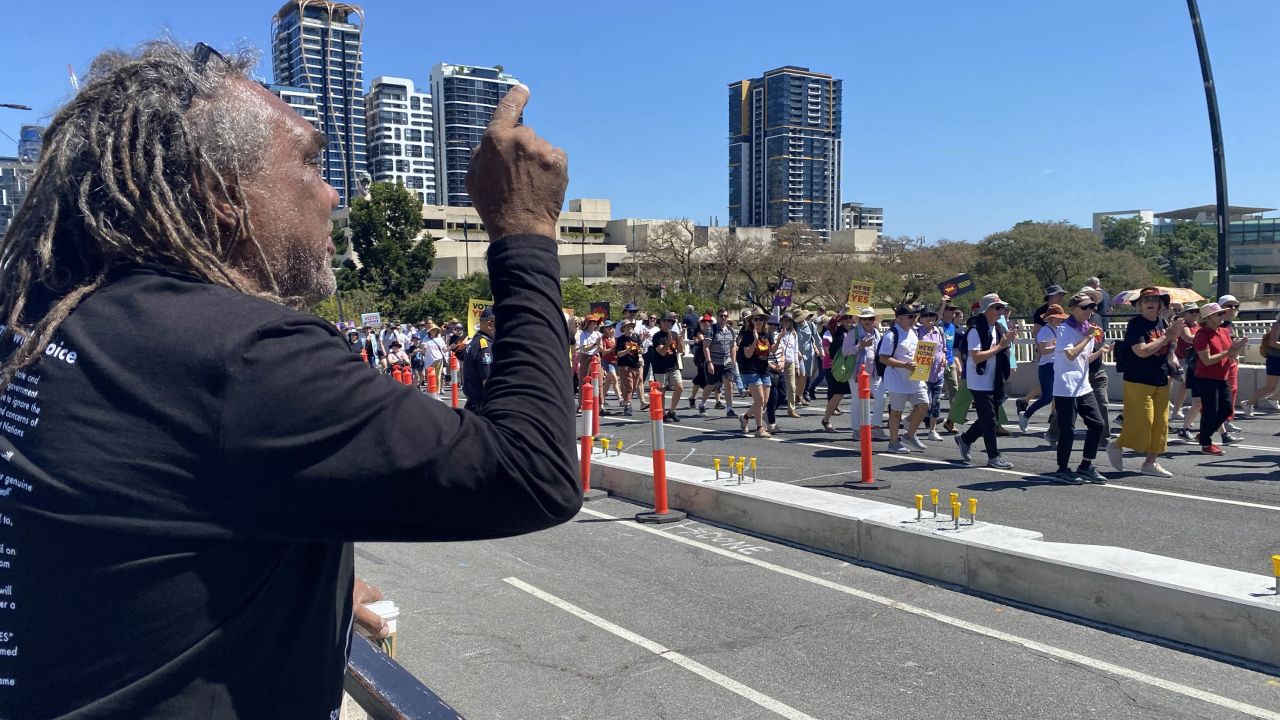
[[[763,479],[858,492],[904,506],[914,506],[916,493],[928,498],[929,488],[942,491],[943,498],[954,491],[961,498],[977,497],[982,519],[1037,530],[1048,541],[1129,547],[1258,574],[1270,574],[1270,557],[1280,553],[1280,414],[1238,419],[1244,441],[1228,447],[1221,457],[1199,454],[1194,443],[1170,445],[1161,459],[1174,473],[1167,479],[1139,474],[1142,461],[1132,454],[1126,470],[1116,471],[1100,452],[1097,465],[1110,480],[1105,486],[1047,480],[1042,473],[1056,470],[1057,461],[1041,437],[1043,424],[1033,424],[1025,434],[1010,425],[1012,434],[1000,438],[1001,452],[1014,470],[983,468],[980,441],[972,468],[959,464],[951,436],[943,436],[943,442],[924,441],[928,450],[911,455],[887,454],[887,443],[879,441],[873,443],[876,478],[890,480],[891,487],[868,492],[841,486],[860,477],[847,429],[847,400],[844,407],[846,415],[833,418],[838,433],[820,430],[822,413],[815,404],[801,409],[800,419],[780,416],[781,432],[762,439],[742,437],[739,421],[724,418],[723,410],[708,407],[708,418],[696,418],[686,406],[680,423],[666,427],[667,459],[707,468],[714,457],[755,456]],[[1012,401],[1006,410],[1015,416]],[[1043,423],[1047,413],[1042,410],[1037,419]],[[1117,413],[1119,406],[1112,405],[1112,419]],[[648,413],[604,416],[600,433],[623,441],[625,452],[646,454],[650,448]],[[1082,446],[1083,432],[1078,433],[1073,466]]]

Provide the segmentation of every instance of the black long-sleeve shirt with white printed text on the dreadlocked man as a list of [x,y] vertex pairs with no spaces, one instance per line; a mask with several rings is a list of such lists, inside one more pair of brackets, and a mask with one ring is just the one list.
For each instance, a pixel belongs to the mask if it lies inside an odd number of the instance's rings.
[[490,247],[479,414],[191,277],[87,297],[0,409],[0,716],[335,717],[353,541],[577,512],[558,274],[548,238]]

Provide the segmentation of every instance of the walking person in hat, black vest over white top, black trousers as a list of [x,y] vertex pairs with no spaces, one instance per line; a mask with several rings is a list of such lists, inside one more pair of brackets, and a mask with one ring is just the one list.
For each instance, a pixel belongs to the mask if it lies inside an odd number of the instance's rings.
[[978,301],[978,314],[969,319],[965,332],[965,378],[973,404],[978,409],[978,420],[963,434],[956,436],[960,457],[972,462],[970,448],[980,437],[986,445],[987,466],[1009,470],[1012,464],[1000,455],[996,445],[997,411],[1005,402],[1005,382],[1009,379],[1009,347],[1018,340],[1018,331],[1000,325],[1001,313],[1009,305],[992,292]]

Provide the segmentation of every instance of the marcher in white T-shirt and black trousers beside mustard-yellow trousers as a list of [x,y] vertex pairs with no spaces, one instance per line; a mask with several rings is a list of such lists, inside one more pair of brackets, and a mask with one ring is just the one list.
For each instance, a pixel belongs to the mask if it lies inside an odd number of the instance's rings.
[[[1057,471],[1051,474],[1053,482],[1080,484],[1082,482],[1105,483],[1107,479],[1093,466],[1106,427],[1102,411],[1093,397],[1089,383],[1089,363],[1102,354],[1102,328],[1092,324],[1097,304],[1088,295],[1080,293],[1069,302],[1071,316],[1061,305],[1050,305],[1044,319],[1057,319],[1061,328],[1057,334],[1057,347],[1053,351],[1053,407],[1057,411]],[[1062,319],[1066,319],[1062,323]],[[1084,420],[1084,456],[1079,468],[1070,469],[1071,445],[1075,441],[1075,416]]]

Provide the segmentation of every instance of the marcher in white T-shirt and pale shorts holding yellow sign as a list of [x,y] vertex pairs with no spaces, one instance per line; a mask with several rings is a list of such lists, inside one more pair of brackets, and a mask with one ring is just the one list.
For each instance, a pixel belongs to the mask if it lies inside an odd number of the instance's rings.
[[[879,363],[884,366],[881,391],[888,397],[888,451],[899,454],[911,452],[908,446],[924,451],[924,443],[915,437],[915,430],[920,428],[924,414],[929,409],[929,392],[924,380],[914,379],[916,370],[915,350],[920,342],[915,332],[915,320],[920,316],[920,309],[915,305],[902,305],[893,318],[893,327],[881,338],[877,352]],[[932,354],[931,354],[932,356]],[[929,365],[924,365],[928,377]],[[902,420],[902,410],[910,407],[911,414],[906,420],[906,438],[899,439],[899,424]]]

